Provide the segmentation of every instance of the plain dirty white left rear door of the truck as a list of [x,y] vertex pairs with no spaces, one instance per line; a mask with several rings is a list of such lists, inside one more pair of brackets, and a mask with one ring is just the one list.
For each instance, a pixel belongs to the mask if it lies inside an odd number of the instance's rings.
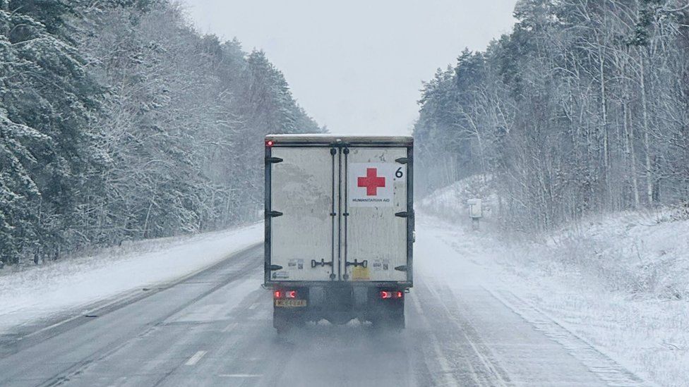
[[339,157],[327,147],[274,147],[271,156],[266,237],[270,263],[282,269],[271,270],[270,280],[337,278],[334,214]]

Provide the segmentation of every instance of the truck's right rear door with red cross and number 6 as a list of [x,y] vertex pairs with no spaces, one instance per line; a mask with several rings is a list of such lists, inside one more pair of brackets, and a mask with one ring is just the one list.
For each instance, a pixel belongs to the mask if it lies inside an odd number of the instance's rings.
[[407,148],[349,147],[344,153],[342,279],[406,281],[400,269],[407,267]]

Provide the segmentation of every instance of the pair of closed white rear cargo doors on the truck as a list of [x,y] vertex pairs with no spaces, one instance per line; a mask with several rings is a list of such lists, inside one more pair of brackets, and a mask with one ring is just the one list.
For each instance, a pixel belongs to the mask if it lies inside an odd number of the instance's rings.
[[410,282],[410,156],[405,145],[268,145],[265,281]]

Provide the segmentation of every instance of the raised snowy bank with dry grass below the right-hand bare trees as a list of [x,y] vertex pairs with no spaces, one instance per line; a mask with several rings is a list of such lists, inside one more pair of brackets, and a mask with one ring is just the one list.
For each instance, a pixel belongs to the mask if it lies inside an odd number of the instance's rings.
[[689,300],[689,220],[676,214],[661,209],[587,219],[546,235],[546,252],[609,290]]

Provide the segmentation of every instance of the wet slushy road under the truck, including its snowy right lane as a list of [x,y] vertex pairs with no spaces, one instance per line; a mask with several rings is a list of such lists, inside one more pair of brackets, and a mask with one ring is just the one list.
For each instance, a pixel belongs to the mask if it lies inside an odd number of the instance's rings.
[[[443,274],[445,259],[465,275]],[[419,235],[416,262],[403,333],[350,323],[277,338],[252,247],[146,297],[4,340],[0,386],[642,385],[433,235]]]

